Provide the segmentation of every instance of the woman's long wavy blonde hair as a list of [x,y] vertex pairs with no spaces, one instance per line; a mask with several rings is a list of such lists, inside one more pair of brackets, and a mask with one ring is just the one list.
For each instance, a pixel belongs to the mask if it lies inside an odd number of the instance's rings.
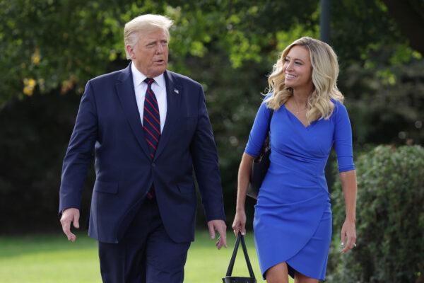
[[277,110],[293,96],[293,88],[284,84],[283,63],[290,49],[296,45],[309,50],[312,64],[314,90],[307,100],[307,120],[311,123],[322,118],[329,119],[334,110],[331,98],[343,103],[343,94],[337,88],[337,55],[328,44],[311,37],[301,37],[283,50],[281,58],[274,64],[268,78],[269,89],[266,94],[272,93],[272,96],[266,100],[266,105]]

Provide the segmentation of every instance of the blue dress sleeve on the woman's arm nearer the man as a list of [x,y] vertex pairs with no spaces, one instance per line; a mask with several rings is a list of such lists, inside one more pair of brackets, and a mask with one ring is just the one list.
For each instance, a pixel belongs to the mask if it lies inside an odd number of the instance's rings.
[[268,129],[268,119],[271,113],[271,109],[266,106],[266,99],[268,95],[262,101],[261,106],[254,118],[252,129],[249,134],[249,141],[247,141],[245,153],[249,156],[257,157],[261,153],[262,146],[266,138],[266,129]]

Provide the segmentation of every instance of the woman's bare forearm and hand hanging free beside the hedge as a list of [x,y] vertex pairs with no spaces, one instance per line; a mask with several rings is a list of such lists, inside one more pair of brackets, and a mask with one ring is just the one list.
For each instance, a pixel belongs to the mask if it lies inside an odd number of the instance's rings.
[[341,187],[346,204],[346,219],[341,228],[342,253],[346,253],[355,246],[356,242],[356,171],[346,171],[340,173]]

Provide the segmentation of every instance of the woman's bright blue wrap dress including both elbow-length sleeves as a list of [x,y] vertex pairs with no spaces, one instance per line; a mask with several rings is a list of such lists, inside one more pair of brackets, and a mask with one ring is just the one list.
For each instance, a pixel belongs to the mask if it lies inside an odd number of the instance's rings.
[[[298,271],[325,278],[331,203],[324,168],[333,144],[338,171],[355,169],[348,112],[339,101],[331,101],[331,117],[307,127],[285,105],[273,112],[271,164],[254,212],[254,241],[263,277],[269,267],[286,262],[291,277]],[[269,114],[266,103],[261,103],[245,149],[250,156],[261,151]]]

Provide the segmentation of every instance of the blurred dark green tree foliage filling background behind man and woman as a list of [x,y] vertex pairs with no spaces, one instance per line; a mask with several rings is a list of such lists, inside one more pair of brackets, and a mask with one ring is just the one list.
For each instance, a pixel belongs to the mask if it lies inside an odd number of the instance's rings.
[[[331,5],[330,43],[355,145],[423,143],[421,54],[381,1]],[[57,225],[61,161],[79,95],[88,79],[126,67],[124,23],[142,13],[175,21],[170,69],[204,85],[232,221],[237,168],[266,75],[285,45],[318,37],[319,1],[0,0],[0,214],[14,216],[1,231]],[[88,180],[83,217],[93,175]]]

